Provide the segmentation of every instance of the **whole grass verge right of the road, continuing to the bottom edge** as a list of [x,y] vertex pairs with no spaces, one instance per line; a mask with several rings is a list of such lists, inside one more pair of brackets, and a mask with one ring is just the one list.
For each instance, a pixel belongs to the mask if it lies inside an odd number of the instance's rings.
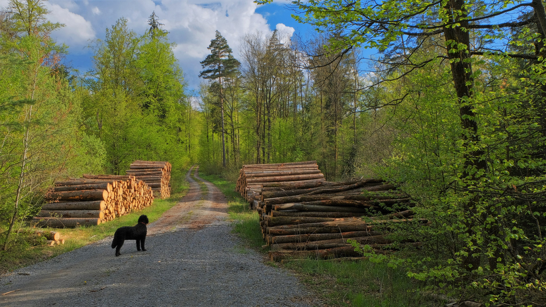
[[[216,174],[200,172],[199,176],[216,185],[228,198],[229,218],[235,222],[234,232],[251,247],[264,252],[260,248],[264,242],[258,214],[235,192],[235,183]],[[428,306],[423,297],[412,292],[414,285],[402,270],[382,263],[308,259],[273,265],[292,270],[328,306]]]

